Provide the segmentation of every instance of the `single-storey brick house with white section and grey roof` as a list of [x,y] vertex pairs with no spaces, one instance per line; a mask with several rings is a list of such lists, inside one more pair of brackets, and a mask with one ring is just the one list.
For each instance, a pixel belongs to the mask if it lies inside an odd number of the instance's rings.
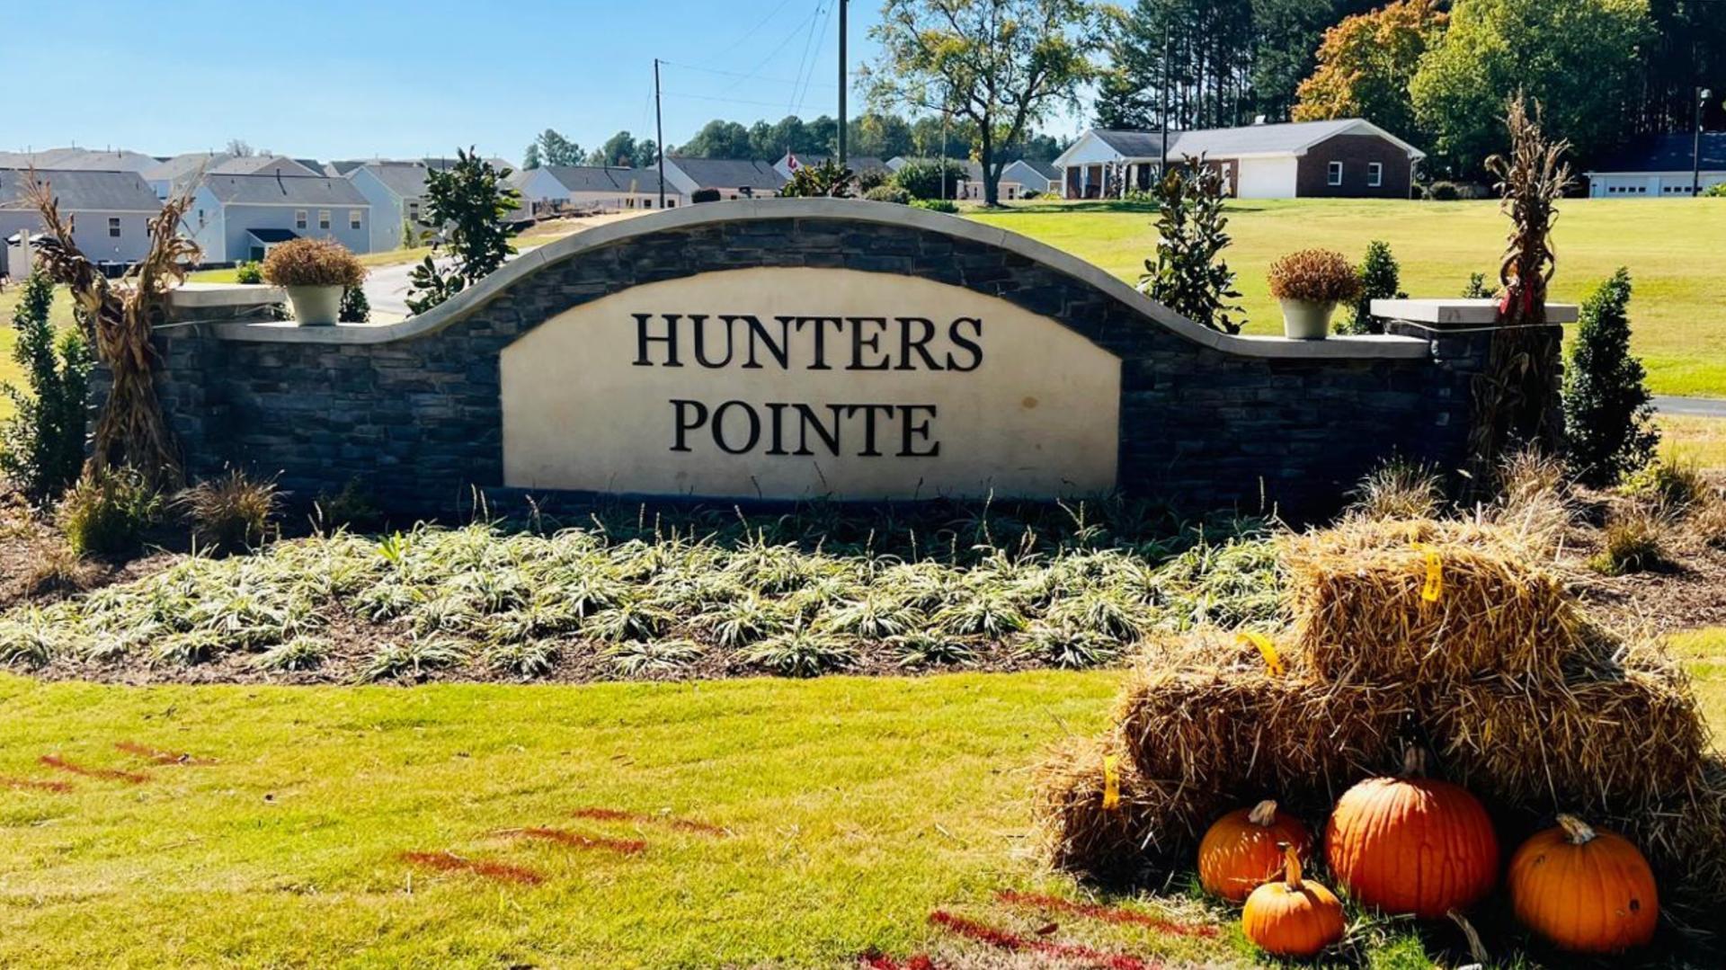
[[[1055,159],[1067,198],[1150,190],[1162,167],[1162,131],[1093,128]],[[1358,117],[1169,131],[1169,159],[1203,157],[1239,198],[1408,198],[1414,145]]]

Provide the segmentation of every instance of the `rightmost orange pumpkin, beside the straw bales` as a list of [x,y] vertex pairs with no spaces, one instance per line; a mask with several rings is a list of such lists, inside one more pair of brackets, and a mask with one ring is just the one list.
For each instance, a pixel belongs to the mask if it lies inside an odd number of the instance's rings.
[[1510,903],[1522,925],[1571,953],[1619,953],[1654,939],[1660,894],[1636,846],[1574,815],[1510,858]]

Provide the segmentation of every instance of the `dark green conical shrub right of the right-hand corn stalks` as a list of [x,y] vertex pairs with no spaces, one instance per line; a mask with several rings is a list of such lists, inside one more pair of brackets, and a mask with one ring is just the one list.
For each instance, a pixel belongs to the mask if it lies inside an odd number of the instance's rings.
[[1660,444],[1647,373],[1629,352],[1629,271],[1619,268],[1583,300],[1564,368],[1564,454],[1590,485],[1614,485],[1643,468]]

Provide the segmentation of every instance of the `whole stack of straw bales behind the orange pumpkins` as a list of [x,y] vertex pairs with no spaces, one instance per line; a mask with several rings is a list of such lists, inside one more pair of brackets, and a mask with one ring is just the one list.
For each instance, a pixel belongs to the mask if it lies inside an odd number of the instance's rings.
[[1288,627],[1141,649],[1098,742],[1120,753],[1122,809],[1103,806],[1098,746],[1041,768],[1049,858],[1098,879],[1167,879],[1224,811],[1274,797],[1319,830],[1338,792],[1396,773],[1417,746],[1507,839],[1583,813],[1641,847],[1681,923],[1712,925],[1726,759],[1688,678],[1659,647],[1593,623],[1541,542],[1431,520],[1288,539]]

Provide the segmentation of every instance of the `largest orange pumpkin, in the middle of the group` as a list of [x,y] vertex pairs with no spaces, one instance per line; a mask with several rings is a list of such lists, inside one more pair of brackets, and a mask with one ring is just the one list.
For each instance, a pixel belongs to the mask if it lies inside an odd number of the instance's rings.
[[1498,835],[1460,785],[1422,777],[1410,751],[1403,777],[1367,778],[1343,792],[1326,830],[1338,884],[1386,913],[1438,920],[1498,882]]

